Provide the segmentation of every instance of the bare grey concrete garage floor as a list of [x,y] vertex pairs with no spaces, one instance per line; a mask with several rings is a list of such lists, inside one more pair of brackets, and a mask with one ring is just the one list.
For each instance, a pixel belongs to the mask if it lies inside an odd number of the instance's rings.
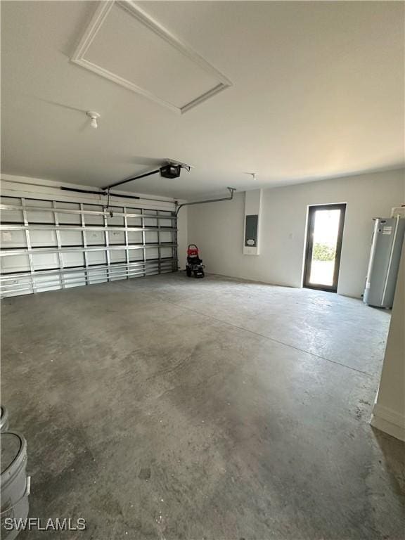
[[179,273],[2,316],[30,515],[87,522],[58,538],[403,538],[404,445],[368,424],[386,311]]

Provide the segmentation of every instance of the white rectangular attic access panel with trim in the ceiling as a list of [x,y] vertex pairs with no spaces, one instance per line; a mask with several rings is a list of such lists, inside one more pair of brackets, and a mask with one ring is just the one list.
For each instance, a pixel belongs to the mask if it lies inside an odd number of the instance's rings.
[[71,60],[178,113],[231,86],[130,0],[100,2]]

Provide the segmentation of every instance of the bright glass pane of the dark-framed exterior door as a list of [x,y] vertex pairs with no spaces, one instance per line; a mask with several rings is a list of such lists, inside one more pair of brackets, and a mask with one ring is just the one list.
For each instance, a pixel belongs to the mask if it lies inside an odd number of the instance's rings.
[[316,210],[309,283],[333,285],[340,210]]

